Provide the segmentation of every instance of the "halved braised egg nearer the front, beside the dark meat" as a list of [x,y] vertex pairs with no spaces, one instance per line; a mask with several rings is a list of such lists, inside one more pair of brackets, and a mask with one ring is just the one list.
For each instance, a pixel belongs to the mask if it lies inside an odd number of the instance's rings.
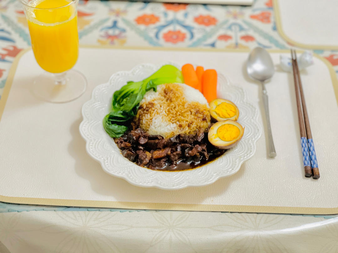
[[211,126],[208,139],[211,144],[221,149],[233,147],[244,134],[242,125],[231,119],[218,121]]

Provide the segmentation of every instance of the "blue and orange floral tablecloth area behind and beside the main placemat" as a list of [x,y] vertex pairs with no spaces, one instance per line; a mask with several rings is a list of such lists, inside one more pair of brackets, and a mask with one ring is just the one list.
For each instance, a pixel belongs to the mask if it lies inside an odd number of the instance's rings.
[[[272,0],[252,6],[80,0],[82,44],[287,49],[277,33]],[[0,1],[1,87],[15,54],[30,46],[27,21],[19,1]],[[338,71],[338,53],[318,51]]]

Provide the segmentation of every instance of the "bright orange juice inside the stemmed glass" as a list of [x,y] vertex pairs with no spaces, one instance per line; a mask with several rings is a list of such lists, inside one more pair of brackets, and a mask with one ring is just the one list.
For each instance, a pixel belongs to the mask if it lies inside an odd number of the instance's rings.
[[71,0],[31,1],[27,11],[35,59],[48,72],[71,69],[78,57],[76,3]]

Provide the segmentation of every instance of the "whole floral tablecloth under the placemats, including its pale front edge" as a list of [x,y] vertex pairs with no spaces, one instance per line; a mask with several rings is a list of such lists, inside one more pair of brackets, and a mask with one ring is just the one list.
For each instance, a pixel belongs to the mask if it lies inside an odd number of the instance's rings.
[[[287,49],[271,1],[252,6],[80,0],[81,44]],[[0,96],[30,46],[18,0],[0,0]],[[314,51],[338,72],[338,52]],[[4,134],[4,133],[1,133]],[[136,211],[0,202],[0,252],[338,252],[338,216]]]

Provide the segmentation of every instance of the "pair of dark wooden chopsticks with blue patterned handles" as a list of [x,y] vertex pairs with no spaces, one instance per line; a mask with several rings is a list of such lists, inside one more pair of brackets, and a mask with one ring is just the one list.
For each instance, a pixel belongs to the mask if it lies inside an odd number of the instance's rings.
[[[299,119],[300,138],[301,138],[305,176],[310,177],[312,175],[314,179],[318,179],[320,177],[320,174],[319,174],[316,152],[314,149],[314,144],[313,144],[313,139],[312,139],[312,134],[311,134],[311,129],[310,129],[310,122],[309,122],[308,112],[306,109],[303,86],[301,84],[297,56],[296,56],[295,50],[291,50],[291,56],[292,56],[293,78],[294,78],[295,90],[296,90],[297,112],[298,112],[298,119]],[[299,101],[299,94],[300,94],[301,106],[300,106],[300,101]],[[309,168],[309,165],[311,165],[310,168]]]

